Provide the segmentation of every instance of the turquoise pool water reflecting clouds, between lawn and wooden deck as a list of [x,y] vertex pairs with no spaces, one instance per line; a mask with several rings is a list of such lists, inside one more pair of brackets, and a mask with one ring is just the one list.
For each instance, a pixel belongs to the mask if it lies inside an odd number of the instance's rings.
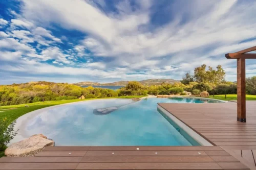
[[[192,145],[157,111],[157,103],[204,102],[207,101],[184,98],[78,102],[36,114],[20,132],[24,137],[42,133],[56,145]],[[103,108],[114,111],[94,113]]]

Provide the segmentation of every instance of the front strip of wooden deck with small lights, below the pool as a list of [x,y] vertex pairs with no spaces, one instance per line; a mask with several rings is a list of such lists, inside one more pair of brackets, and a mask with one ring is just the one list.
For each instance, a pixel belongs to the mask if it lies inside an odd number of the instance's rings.
[[0,169],[248,169],[220,147],[48,147]]

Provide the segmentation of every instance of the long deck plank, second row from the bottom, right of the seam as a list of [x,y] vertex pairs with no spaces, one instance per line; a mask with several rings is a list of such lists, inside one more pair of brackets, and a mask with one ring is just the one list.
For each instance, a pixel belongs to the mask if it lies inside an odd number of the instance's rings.
[[214,160],[209,156],[84,156],[81,162],[214,162]]

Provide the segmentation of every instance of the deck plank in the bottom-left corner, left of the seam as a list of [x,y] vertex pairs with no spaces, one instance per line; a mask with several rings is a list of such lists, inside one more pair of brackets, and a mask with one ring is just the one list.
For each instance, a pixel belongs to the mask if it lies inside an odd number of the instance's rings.
[[46,170],[46,169],[75,169],[79,163],[0,163],[0,169],[4,170]]

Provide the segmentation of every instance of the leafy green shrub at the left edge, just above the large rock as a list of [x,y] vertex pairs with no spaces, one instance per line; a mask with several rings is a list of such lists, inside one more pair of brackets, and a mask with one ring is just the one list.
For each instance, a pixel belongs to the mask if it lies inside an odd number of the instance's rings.
[[4,151],[6,145],[16,136],[17,131],[14,130],[14,125],[16,124],[16,120],[14,120],[8,126],[7,118],[0,120],[0,151]]

